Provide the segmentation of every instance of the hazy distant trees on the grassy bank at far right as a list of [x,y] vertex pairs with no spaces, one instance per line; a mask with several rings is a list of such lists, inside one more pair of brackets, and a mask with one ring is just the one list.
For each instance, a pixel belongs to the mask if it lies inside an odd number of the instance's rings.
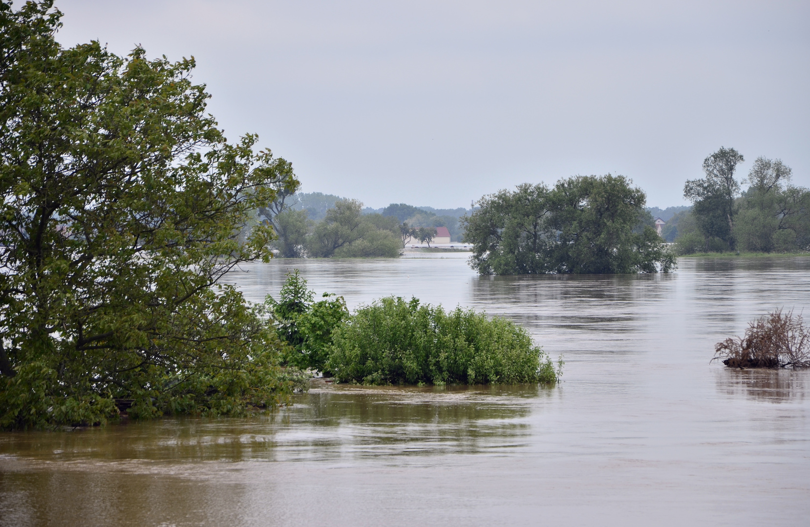
[[738,181],[743,161],[735,149],[721,147],[703,161],[706,177],[686,182],[684,197],[692,208],[662,229],[679,253],[810,250],[810,190],[791,184],[791,168],[781,160],[765,157]]

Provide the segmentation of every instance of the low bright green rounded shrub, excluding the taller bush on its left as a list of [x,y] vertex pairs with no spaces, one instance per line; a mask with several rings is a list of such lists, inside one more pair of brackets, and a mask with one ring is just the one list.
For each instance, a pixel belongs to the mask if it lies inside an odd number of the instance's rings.
[[358,309],[332,335],[326,367],[365,385],[554,383],[559,371],[526,329],[471,309],[445,312],[393,296]]

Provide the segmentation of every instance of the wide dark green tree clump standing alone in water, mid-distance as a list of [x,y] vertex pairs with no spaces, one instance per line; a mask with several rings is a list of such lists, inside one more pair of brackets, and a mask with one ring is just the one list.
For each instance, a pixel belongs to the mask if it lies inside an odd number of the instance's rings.
[[481,198],[465,222],[482,274],[667,272],[646,196],[624,176],[576,176]]

